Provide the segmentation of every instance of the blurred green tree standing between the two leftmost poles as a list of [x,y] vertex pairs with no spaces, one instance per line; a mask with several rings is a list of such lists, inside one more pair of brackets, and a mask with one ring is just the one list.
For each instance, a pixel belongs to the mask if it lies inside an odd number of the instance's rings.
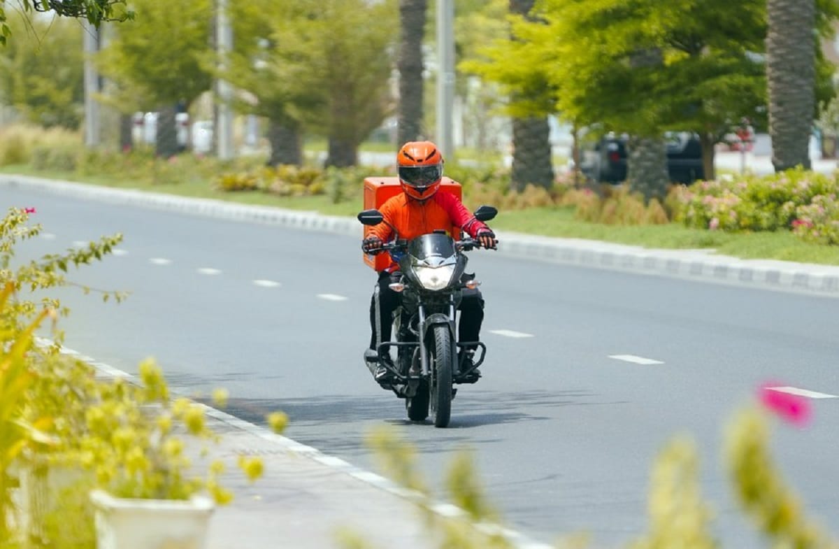
[[134,0],[132,6],[137,18],[114,27],[97,59],[102,74],[116,83],[117,107],[159,112],[156,152],[169,157],[178,152],[177,104],[188,107],[211,88],[212,3],[185,0],[177,13],[156,0]]

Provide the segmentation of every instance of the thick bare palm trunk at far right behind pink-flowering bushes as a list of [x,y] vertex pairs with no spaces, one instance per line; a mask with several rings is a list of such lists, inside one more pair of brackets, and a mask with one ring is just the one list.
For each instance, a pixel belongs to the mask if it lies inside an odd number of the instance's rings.
[[775,171],[810,169],[816,108],[816,0],[769,0],[766,78]]

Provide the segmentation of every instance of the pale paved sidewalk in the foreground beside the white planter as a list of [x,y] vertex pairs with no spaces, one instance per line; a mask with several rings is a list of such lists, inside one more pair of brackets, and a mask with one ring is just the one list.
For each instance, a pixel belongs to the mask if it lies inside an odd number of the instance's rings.
[[[355,468],[314,448],[207,409],[207,426],[221,435],[211,457],[227,464],[232,504],[216,509],[206,549],[340,549],[339,532],[352,531],[371,549],[432,549],[430,530],[416,494],[375,473]],[[265,475],[250,484],[236,468],[241,454],[262,457]],[[433,504],[441,519],[460,515]],[[477,526],[486,529],[490,526]],[[505,536],[520,549],[549,549],[513,531]]]

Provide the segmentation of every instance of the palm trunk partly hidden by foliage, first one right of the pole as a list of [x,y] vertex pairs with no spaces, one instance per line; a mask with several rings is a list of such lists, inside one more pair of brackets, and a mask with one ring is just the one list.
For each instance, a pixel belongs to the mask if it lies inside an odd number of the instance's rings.
[[[510,0],[510,13],[527,16],[535,0]],[[513,118],[513,170],[510,186],[521,191],[528,183],[554,184],[548,117]]]

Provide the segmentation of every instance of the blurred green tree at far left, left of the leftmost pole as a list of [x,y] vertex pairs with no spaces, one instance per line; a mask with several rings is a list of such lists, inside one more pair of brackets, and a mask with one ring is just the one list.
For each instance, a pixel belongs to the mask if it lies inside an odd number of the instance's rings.
[[0,98],[31,123],[76,129],[84,110],[82,32],[76,21],[14,18],[26,39],[0,50]]

